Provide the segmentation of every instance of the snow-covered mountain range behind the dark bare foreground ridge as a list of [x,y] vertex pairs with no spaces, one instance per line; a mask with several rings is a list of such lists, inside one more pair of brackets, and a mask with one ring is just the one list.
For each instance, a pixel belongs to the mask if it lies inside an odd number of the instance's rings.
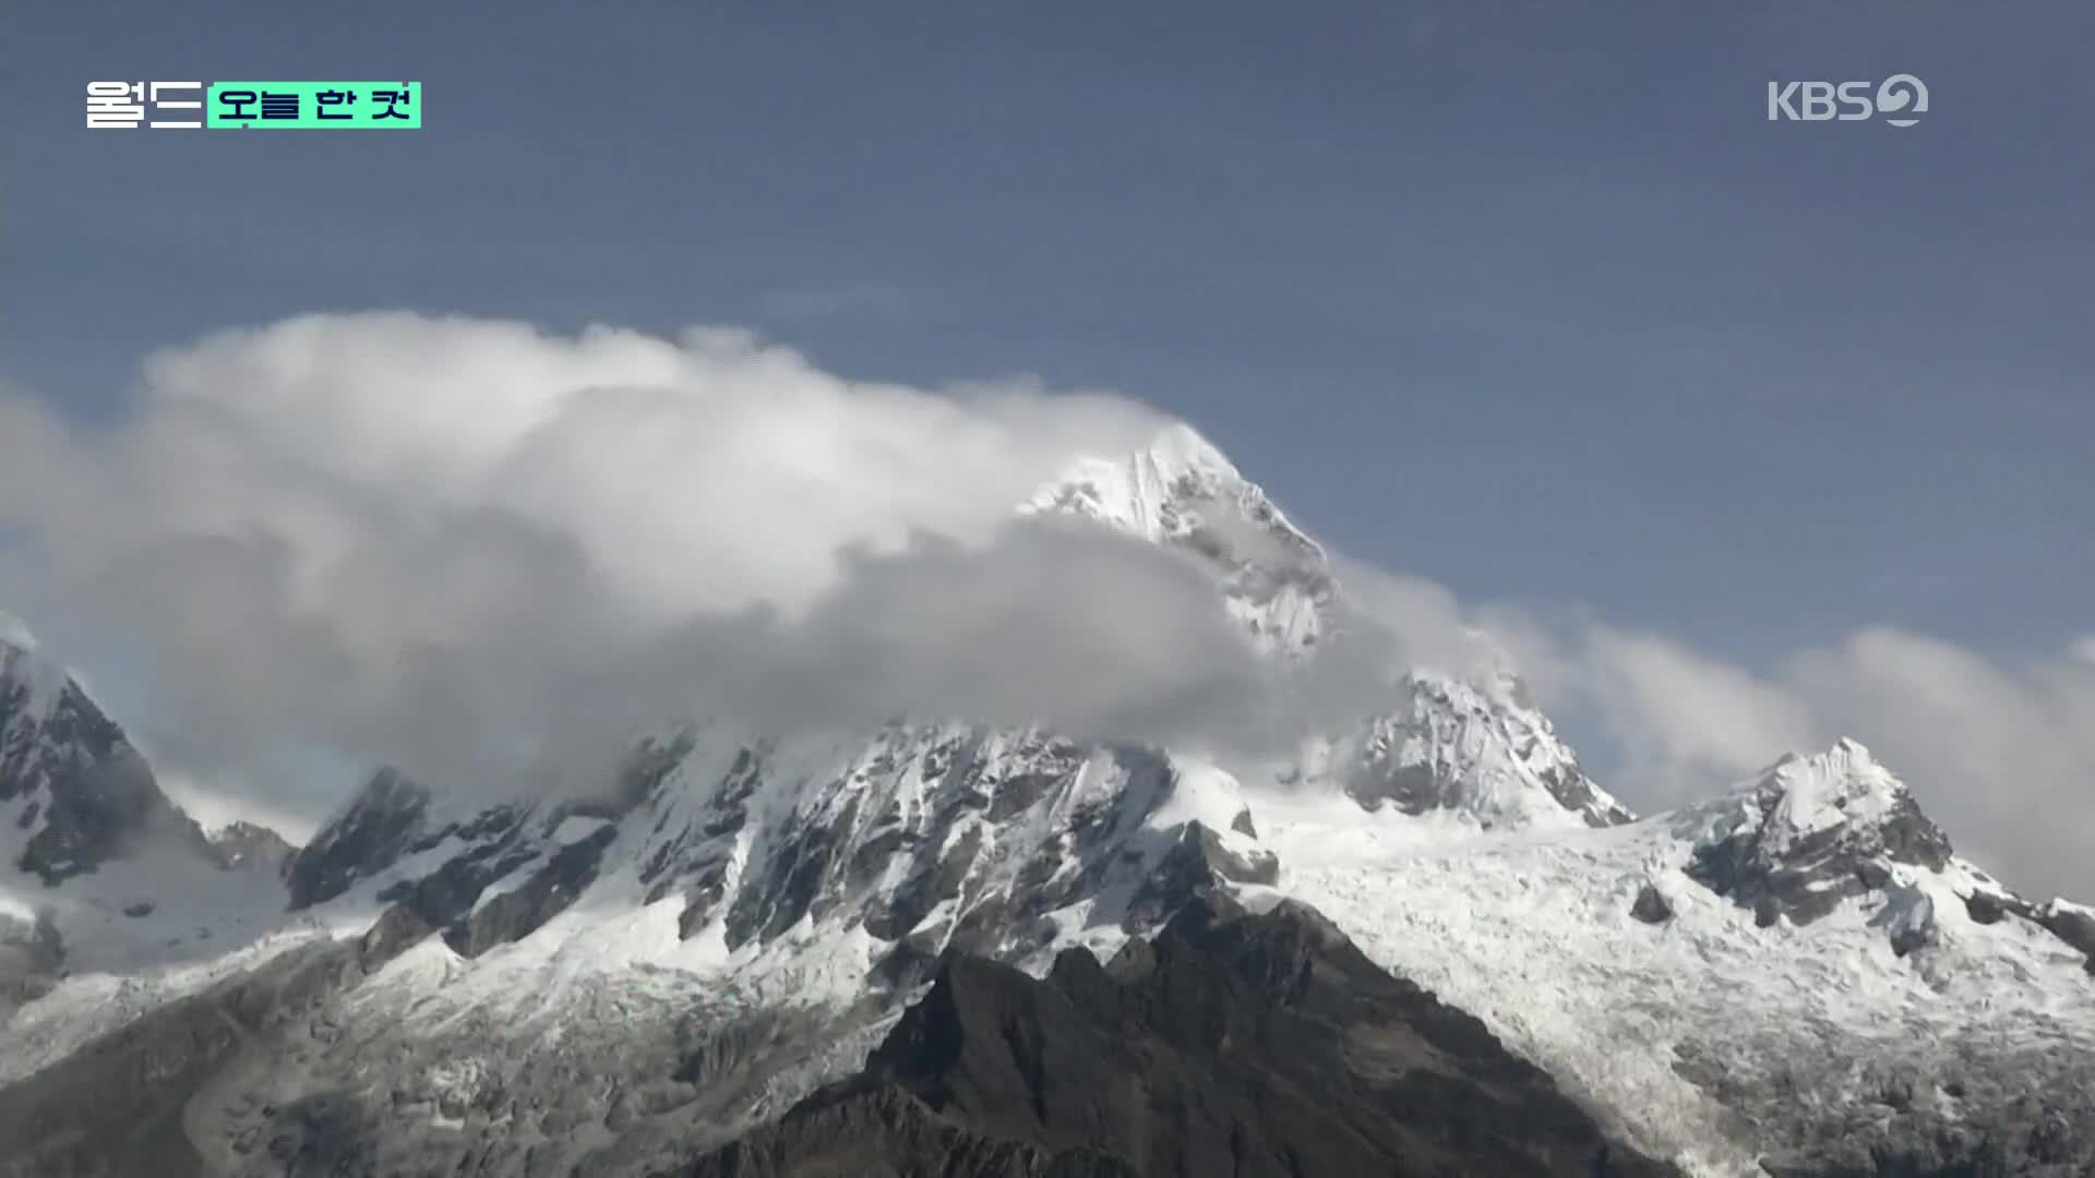
[[[1278,669],[1358,625],[1324,549],[1190,430],[1020,509],[1194,553]],[[0,744],[0,817],[103,797],[82,765],[122,732],[48,664],[8,675],[0,734],[31,736]],[[664,719],[597,801],[473,807],[379,771],[281,885],[191,847],[201,874],[161,891],[201,899],[153,926],[157,962],[73,956],[142,878],[119,841],[0,880],[42,970],[0,1025],[0,1134],[59,1117],[23,1157],[78,1157],[94,1134],[52,1092],[132,1092],[96,1061],[161,1050],[130,1098],[210,1172],[652,1172],[855,1071],[947,954],[1041,975],[1232,893],[1324,912],[1691,1172],[2095,1157],[2055,1130],[2095,1124],[2068,1084],[2095,1067],[2095,916],[1959,859],[1852,742],[1638,822],[1508,675],[1391,669],[1355,725],[1274,763],[964,719]]]

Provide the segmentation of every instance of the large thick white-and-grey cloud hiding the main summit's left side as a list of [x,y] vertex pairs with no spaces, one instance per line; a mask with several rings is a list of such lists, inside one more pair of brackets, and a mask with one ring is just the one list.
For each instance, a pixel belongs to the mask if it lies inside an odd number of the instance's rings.
[[0,528],[149,654],[201,780],[318,746],[517,788],[679,715],[1278,721],[1177,555],[1014,520],[1165,423],[1121,398],[855,384],[740,331],[316,314],[151,356],[107,432],[0,417]]

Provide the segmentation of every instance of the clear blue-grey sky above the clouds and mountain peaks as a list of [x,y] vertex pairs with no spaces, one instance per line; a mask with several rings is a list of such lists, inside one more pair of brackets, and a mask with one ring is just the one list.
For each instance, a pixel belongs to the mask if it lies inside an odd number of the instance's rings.
[[[1119,390],[1355,558],[1747,675],[2095,631],[2095,8],[1135,8],[25,6],[0,377],[94,430],[300,312],[727,323]],[[1915,128],[1766,119],[1894,71]],[[394,75],[419,132],[82,126]]]

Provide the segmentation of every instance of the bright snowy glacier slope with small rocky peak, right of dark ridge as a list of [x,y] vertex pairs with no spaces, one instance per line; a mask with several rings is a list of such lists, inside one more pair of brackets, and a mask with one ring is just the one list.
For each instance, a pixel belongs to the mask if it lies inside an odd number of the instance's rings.
[[1450,843],[1311,807],[1261,820],[1274,895],[1695,1170],[2095,1165],[2085,952],[1973,918],[1967,897],[2005,889],[1858,744],[1609,830]]

